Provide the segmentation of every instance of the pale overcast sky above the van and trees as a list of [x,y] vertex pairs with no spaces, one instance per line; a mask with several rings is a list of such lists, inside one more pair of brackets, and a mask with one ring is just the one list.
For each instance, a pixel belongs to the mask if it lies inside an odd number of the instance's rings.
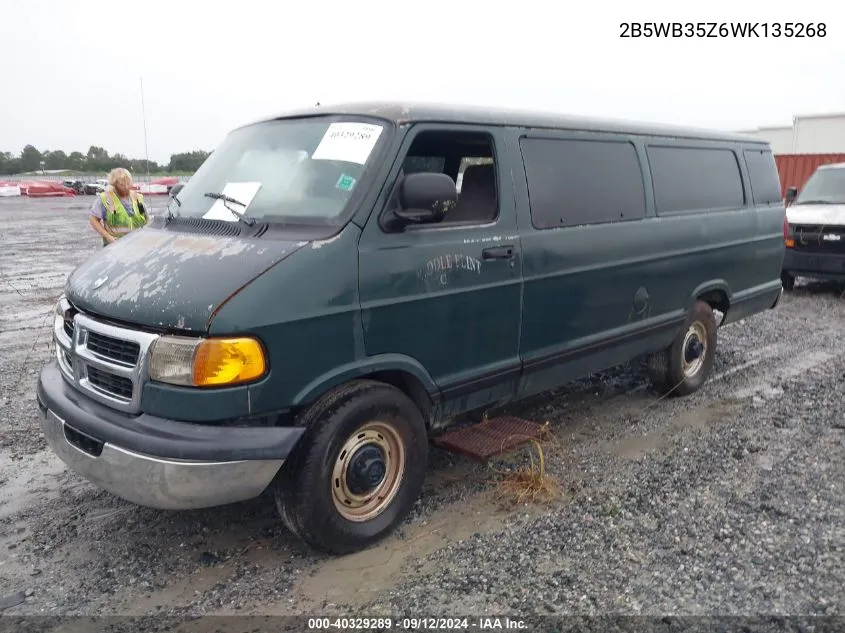
[[[99,145],[142,158],[141,77],[149,155],[159,162],[316,101],[789,125],[794,114],[845,112],[837,4],[0,0],[0,151]],[[621,38],[630,21],[825,22],[827,35]]]

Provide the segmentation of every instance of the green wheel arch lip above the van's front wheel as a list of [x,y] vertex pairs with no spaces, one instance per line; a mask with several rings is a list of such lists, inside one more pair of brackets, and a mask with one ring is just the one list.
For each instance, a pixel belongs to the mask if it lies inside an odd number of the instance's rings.
[[404,354],[379,354],[341,365],[309,382],[293,398],[293,406],[310,404],[327,391],[376,372],[401,371],[414,376],[432,400],[440,397],[440,389],[422,364]]

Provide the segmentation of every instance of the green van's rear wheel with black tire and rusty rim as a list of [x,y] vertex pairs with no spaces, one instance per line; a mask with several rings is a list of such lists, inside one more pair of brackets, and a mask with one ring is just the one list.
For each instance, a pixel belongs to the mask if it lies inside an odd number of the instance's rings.
[[696,301],[672,344],[647,360],[649,378],[661,393],[686,396],[701,388],[713,368],[716,329],[713,309]]

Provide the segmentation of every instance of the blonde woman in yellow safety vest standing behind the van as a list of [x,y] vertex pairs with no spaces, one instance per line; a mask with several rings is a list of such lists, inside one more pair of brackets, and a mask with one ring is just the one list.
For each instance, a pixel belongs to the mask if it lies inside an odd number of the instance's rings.
[[94,200],[90,223],[103,237],[103,246],[146,226],[149,222],[144,196],[132,191],[132,174],[123,167],[109,172],[109,186]]

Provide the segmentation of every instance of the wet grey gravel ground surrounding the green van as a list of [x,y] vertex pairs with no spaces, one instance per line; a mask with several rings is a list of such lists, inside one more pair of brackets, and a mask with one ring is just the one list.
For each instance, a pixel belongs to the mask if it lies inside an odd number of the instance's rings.
[[552,502],[501,507],[527,449],[486,466],[432,449],[399,532],[328,558],[266,498],[138,508],[46,449],[35,377],[64,279],[98,248],[89,202],[0,199],[4,615],[845,615],[841,287],[799,280],[720,330],[693,396],[622,367],[511,407],[551,422]]

